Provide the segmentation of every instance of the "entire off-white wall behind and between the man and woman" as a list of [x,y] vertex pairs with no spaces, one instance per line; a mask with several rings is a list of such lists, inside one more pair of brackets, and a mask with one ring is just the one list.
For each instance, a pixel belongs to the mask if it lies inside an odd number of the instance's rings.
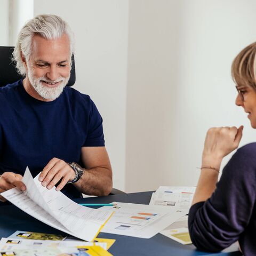
[[75,32],[75,87],[102,114],[114,187],[196,185],[211,126],[243,124],[241,145],[254,141],[230,77],[256,39],[254,10],[253,0],[34,0],[35,15]]

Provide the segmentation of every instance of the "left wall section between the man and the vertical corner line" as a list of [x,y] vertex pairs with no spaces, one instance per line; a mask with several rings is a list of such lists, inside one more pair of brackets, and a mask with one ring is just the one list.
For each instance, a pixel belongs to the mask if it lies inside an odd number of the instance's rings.
[[114,187],[124,190],[128,1],[34,1],[35,15],[60,15],[76,38],[76,83],[103,117]]

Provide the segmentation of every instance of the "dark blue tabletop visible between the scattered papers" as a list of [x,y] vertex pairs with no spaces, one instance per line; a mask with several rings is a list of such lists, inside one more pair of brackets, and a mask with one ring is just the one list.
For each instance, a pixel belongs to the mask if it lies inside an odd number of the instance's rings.
[[[124,202],[124,203],[138,203],[148,204],[152,192],[141,192],[132,194],[111,195],[102,197],[91,197],[76,199],[77,203],[111,203],[111,202]],[[56,230],[50,226],[45,225],[30,215],[22,212],[14,205],[5,205],[0,207],[0,237],[7,237],[14,233],[16,230],[26,230],[50,234],[63,234],[61,231]],[[99,237],[113,238],[116,242],[110,247],[109,252],[113,255],[121,256],[194,256],[194,255],[242,255],[236,251],[237,246],[229,248],[220,253],[207,253],[197,251],[194,245],[182,245],[172,239],[157,234],[150,239],[121,236],[107,233],[100,233]],[[233,251],[233,252],[232,252]]]

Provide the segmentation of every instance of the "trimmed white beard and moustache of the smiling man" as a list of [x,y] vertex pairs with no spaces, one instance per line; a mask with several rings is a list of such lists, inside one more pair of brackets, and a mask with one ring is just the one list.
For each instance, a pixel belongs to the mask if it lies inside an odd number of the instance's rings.
[[[42,76],[42,77],[34,77],[32,74],[31,74],[31,71],[30,71],[30,68],[28,67],[28,79],[29,79],[29,82],[30,84],[34,87],[34,89],[36,90],[36,92],[44,99],[46,100],[55,100],[57,99],[60,94],[63,92],[63,89],[65,88],[65,86],[67,85],[68,81],[69,81],[69,77],[70,77],[70,74],[68,77],[59,77],[57,80],[55,81],[51,81],[50,79],[48,79],[47,77],[45,76]],[[44,81],[46,83],[57,83],[57,82],[60,82],[60,85],[57,86],[57,87],[47,87],[45,85],[42,84],[41,81]]]

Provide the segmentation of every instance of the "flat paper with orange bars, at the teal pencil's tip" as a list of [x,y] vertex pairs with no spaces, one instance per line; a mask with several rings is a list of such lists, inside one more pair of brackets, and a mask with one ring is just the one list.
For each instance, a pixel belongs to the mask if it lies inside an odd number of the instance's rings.
[[101,209],[115,211],[115,214],[102,228],[102,232],[151,238],[188,213],[188,209],[174,209],[159,205],[118,203]]

